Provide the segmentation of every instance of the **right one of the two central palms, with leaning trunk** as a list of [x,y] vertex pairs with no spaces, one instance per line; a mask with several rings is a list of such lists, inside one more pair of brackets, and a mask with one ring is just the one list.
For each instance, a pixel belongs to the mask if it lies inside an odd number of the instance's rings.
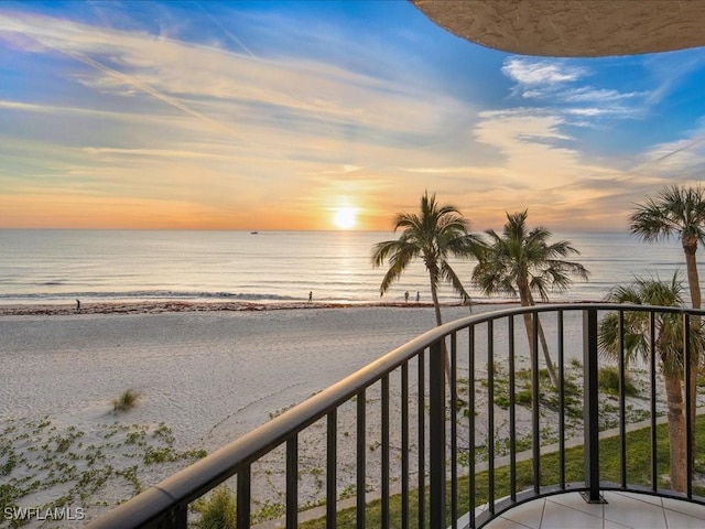
[[[522,306],[535,304],[534,293],[541,301],[549,301],[549,291],[563,292],[571,285],[572,277],[587,280],[588,271],[577,262],[566,261],[568,255],[579,255],[568,240],[549,244],[551,231],[538,227],[527,229],[528,212],[507,214],[502,235],[488,230],[490,241],[482,249],[479,264],[473,271],[473,281],[487,295],[509,294],[519,296]],[[533,321],[524,314],[529,343],[533,344]],[[541,324],[538,333],[551,381],[558,380],[549,355],[549,346]],[[533,345],[531,345],[533,348]],[[532,350],[532,353],[535,353]]]

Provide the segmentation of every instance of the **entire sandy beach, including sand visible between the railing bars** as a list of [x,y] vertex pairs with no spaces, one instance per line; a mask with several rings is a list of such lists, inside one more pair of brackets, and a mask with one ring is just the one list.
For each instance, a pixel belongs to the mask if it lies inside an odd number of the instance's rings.
[[[471,313],[508,306],[475,305]],[[82,508],[75,527],[435,324],[433,307],[415,303],[104,303],[84,305],[80,313],[68,305],[3,306],[1,311],[0,476],[24,490],[11,506],[58,501]],[[467,306],[443,307],[446,322],[469,314]],[[573,376],[576,384],[582,379],[581,363],[572,359],[581,358],[581,320],[575,312],[565,321],[566,344],[571,344],[566,376]],[[546,317],[542,323],[546,334],[553,335],[555,321]],[[486,337],[479,331],[476,341],[477,350],[485,350]],[[497,370],[506,364],[507,337],[500,332],[495,344]],[[462,336],[458,346],[467,350]],[[527,343],[519,338],[516,346],[518,367],[525,367]],[[480,428],[487,369],[482,358],[476,357],[475,386]],[[568,374],[571,369],[574,373]],[[413,373],[412,367],[412,388]],[[632,374],[639,376],[639,370]],[[467,363],[459,359],[458,377],[466,376]],[[391,457],[395,464],[401,450],[401,390],[398,377],[390,380]],[[113,411],[113,399],[128,389],[140,393],[138,406]],[[366,393],[370,469],[379,468],[375,464],[380,456],[378,389],[373,386]],[[638,409],[643,402],[634,399],[630,406]],[[410,452],[415,453],[413,402],[410,409]],[[518,408],[517,414],[519,431],[530,431],[529,410]],[[507,421],[496,421],[496,435],[507,435]],[[542,421],[549,430],[555,427],[550,413],[542,412]],[[338,494],[346,497],[355,483],[354,402],[340,409],[338,432]],[[463,443],[463,428],[459,435]],[[481,446],[484,433],[476,435]],[[301,506],[319,500],[324,443],[324,423],[312,425],[300,438]],[[262,519],[275,518],[283,505],[283,450],[278,450],[253,466],[253,512],[260,510]],[[412,457],[412,475],[413,465]],[[369,476],[368,483],[373,494],[379,476]],[[0,527],[9,527],[3,523],[8,519],[0,520]]]

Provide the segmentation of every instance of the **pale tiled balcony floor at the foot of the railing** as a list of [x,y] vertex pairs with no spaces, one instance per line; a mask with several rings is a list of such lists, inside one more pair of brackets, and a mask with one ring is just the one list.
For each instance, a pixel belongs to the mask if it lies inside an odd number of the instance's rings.
[[578,493],[536,499],[505,512],[488,529],[704,529],[705,507],[655,496],[605,492],[606,504]]

